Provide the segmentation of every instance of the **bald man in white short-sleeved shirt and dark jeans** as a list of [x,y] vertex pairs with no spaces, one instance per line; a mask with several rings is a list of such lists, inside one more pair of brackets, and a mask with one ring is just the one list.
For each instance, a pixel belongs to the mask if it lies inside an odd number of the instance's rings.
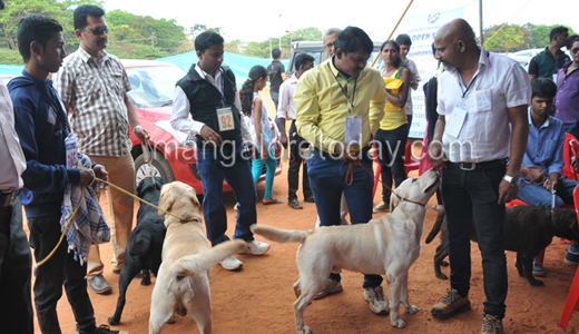
[[439,78],[440,116],[430,159],[442,167],[451,289],[432,314],[445,320],[470,307],[469,235],[474,216],[487,296],[482,333],[502,333],[508,284],[504,203],[514,199],[519,188],[529,135],[529,77],[517,61],[477,46],[472,28],[462,19],[436,31],[434,48],[435,58],[449,69]]

